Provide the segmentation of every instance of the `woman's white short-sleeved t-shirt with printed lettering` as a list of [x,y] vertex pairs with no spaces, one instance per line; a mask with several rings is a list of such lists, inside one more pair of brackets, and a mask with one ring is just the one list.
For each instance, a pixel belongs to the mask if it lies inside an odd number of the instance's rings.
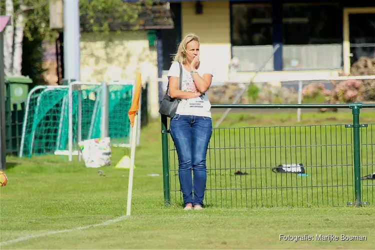
[[[203,74],[212,74],[212,68],[210,68],[207,64],[203,64],[200,62],[199,68],[196,69],[198,74],[203,77]],[[173,61],[172,65],[170,65],[168,71],[168,79],[169,76],[176,76],[179,78],[179,63],[177,61]],[[178,79],[179,80],[179,79]],[[189,91],[189,92],[196,92],[195,83],[191,77],[189,71],[187,71],[182,65],[182,91]],[[201,96],[196,98],[190,99],[181,99],[178,103],[178,107],[176,110],[177,114],[182,115],[195,115],[195,116],[205,116],[211,117],[211,103],[208,100],[208,93],[205,91]]]

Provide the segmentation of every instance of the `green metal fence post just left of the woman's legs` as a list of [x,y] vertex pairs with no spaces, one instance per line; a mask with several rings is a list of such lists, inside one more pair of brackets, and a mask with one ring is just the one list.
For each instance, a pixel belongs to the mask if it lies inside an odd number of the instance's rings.
[[161,115],[161,151],[163,162],[164,205],[170,202],[167,117]]

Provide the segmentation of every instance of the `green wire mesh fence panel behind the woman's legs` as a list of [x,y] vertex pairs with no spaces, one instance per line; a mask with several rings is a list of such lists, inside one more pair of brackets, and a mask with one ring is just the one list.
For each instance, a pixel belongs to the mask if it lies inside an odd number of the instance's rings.
[[[355,124],[354,119],[353,123],[213,128],[206,159],[204,204],[373,204],[374,182],[360,178],[375,171],[375,124]],[[359,136],[355,131],[359,131]],[[182,204],[178,156],[169,134],[166,140],[168,173],[166,179],[164,166],[164,198],[166,203]],[[304,171],[277,171],[294,169],[290,166],[303,167]],[[356,168],[360,171],[356,172]]]

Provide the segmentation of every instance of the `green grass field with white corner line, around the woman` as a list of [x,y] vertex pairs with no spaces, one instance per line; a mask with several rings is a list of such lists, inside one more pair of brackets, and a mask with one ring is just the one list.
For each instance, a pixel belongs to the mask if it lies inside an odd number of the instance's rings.
[[[217,120],[218,115],[213,117]],[[369,111],[361,111],[362,123],[375,123],[375,115]],[[350,113],[305,113],[302,114],[301,124],[348,124],[351,123]],[[343,130],[346,135],[339,134],[338,126],[324,126],[313,130],[319,136],[309,138],[305,134],[311,134],[310,128],[294,128],[295,113],[280,114],[229,114],[222,123],[222,127],[253,127],[253,126],[289,126],[286,130],[278,128],[262,128],[256,131],[255,128],[247,128],[228,131],[231,139],[223,141],[223,133],[215,132],[214,139],[211,140],[211,154],[207,159],[209,170],[207,188],[217,188],[218,183],[227,183],[228,187],[243,187],[244,181],[230,183],[233,180],[232,171],[247,171],[249,175],[240,176],[246,178],[249,187],[265,187],[265,179],[269,179],[267,185],[277,186],[286,182],[276,182],[271,178],[268,166],[278,163],[282,159],[304,160],[307,164],[319,166],[332,164],[339,167],[347,162],[351,164],[349,153],[342,154],[342,150],[336,144],[347,144],[345,139],[349,139],[350,131]],[[273,130],[272,130],[273,129]],[[290,130],[291,129],[291,130]],[[307,131],[306,131],[307,129]],[[324,130],[328,129],[328,130]],[[369,126],[362,137],[362,163],[368,169],[373,167],[375,160],[375,127]],[[239,142],[239,131],[246,134]],[[248,135],[255,135],[251,139]],[[277,134],[277,136],[269,136]],[[280,137],[280,134],[282,135]],[[293,134],[293,136],[290,136]],[[303,134],[303,136],[301,135]],[[323,135],[324,136],[323,136]],[[327,136],[325,136],[327,134]],[[256,136],[257,135],[257,136]],[[260,135],[260,137],[259,137]],[[220,136],[220,138],[219,138]],[[227,135],[228,136],[228,135]],[[237,139],[238,138],[238,139]],[[256,139],[255,139],[256,138]],[[266,138],[265,140],[263,138]],[[269,138],[271,138],[269,140]],[[291,140],[289,139],[291,138]],[[343,140],[344,138],[344,140]],[[365,138],[365,139],[363,139]],[[296,139],[296,140],[295,140]],[[215,140],[215,141],[213,141]],[[220,141],[220,144],[219,142]],[[331,143],[329,150],[323,154],[320,149],[322,145]],[[286,143],[286,144],[285,144]],[[290,147],[293,143],[301,145],[316,143],[319,150],[309,149],[307,146],[300,146],[296,149]],[[351,142],[350,142],[351,143]],[[233,145],[237,145],[239,148]],[[251,149],[258,147],[257,149]],[[283,145],[284,149],[276,149]],[[286,145],[286,146],[285,146]],[[221,149],[217,149],[217,147]],[[346,146],[347,147],[347,146]],[[346,148],[345,146],[343,148]],[[231,148],[231,149],[229,149]],[[366,150],[364,150],[366,148]],[[221,152],[219,152],[221,150]],[[247,150],[247,151],[246,151]],[[278,150],[278,151],[277,151]],[[306,157],[306,150],[308,157]],[[351,149],[347,149],[349,152]],[[364,153],[365,152],[365,153]],[[216,153],[216,155],[214,155]],[[170,159],[173,159],[173,151],[170,151]],[[284,155],[280,158],[279,154]],[[314,154],[314,155],[313,155]],[[112,161],[115,164],[123,155],[123,149],[112,148]],[[252,155],[251,159],[244,159],[244,155]],[[257,158],[255,159],[255,155]],[[266,156],[269,155],[269,158]],[[278,156],[277,156],[278,155]],[[291,156],[290,156],[291,155]],[[334,156],[333,156],[334,155]],[[341,160],[342,156],[344,159]],[[234,156],[236,157],[234,159]],[[294,157],[294,158],[293,158]],[[307,160],[306,160],[307,159]],[[328,160],[328,161],[327,161]],[[163,183],[161,166],[161,136],[159,120],[151,121],[141,131],[141,143],[136,150],[134,169],[134,183],[132,196],[132,216],[117,222],[100,224],[103,221],[115,219],[125,214],[126,195],[128,183],[128,170],[114,169],[113,166],[100,168],[105,176],[100,176],[97,168],[86,168],[82,162],[68,162],[67,156],[37,156],[32,158],[7,158],[8,168],[5,170],[8,176],[8,184],[0,189],[0,242],[1,249],[31,249],[31,248],[69,248],[69,249],[98,249],[98,248],[324,248],[324,249],[353,249],[372,248],[375,243],[375,207],[373,206],[373,182],[367,181],[366,195],[370,204],[363,207],[344,206],[339,203],[339,207],[332,207],[335,203],[325,202],[323,207],[311,203],[298,203],[297,200],[285,198],[285,203],[263,204],[260,207],[260,200],[270,200],[265,198],[265,191],[262,199],[254,199],[257,204],[245,207],[242,205],[224,205],[223,200],[214,197],[212,191],[207,192],[209,206],[202,211],[183,211],[178,205],[179,193],[172,192],[173,205],[165,207],[163,205]],[[261,164],[264,163],[264,164]],[[221,164],[221,165],[220,165]],[[171,167],[175,161],[170,160]],[[252,173],[256,166],[256,173],[262,174],[261,183],[254,178]],[[263,168],[257,167],[263,166]],[[224,168],[224,169],[222,169]],[[313,167],[311,167],[312,169]],[[221,169],[221,173],[220,173]],[[349,176],[351,168],[347,168],[347,175],[340,175],[333,166],[321,172],[311,172],[311,181],[306,179],[305,184],[312,184],[313,181],[320,186],[326,186],[329,181],[342,179]],[[333,170],[332,170],[333,169]],[[171,169],[173,170],[173,169]],[[363,169],[362,169],[363,170]],[[318,171],[318,170],[316,170]],[[172,173],[171,171],[170,173]],[[364,171],[362,171],[364,174]],[[159,176],[149,176],[157,173]],[[313,173],[318,173],[319,178],[315,178]],[[336,177],[336,173],[337,176]],[[327,175],[328,178],[320,176]],[[256,175],[256,174],[255,174]],[[267,176],[265,178],[265,176]],[[268,178],[269,176],[269,178]],[[332,178],[333,176],[333,178]],[[351,176],[351,175],[350,175]],[[237,176],[238,177],[238,176]],[[170,175],[171,189],[174,188],[174,175]],[[226,178],[226,179],[225,179]],[[294,177],[295,178],[295,177]],[[218,181],[221,180],[221,181]],[[263,181],[264,180],[264,181]],[[211,181],[211,182],[209,182]],[[284,179],[283,181],[286,181]],[[290,180],[288,185],[294,182]],[[323,181],[323,182],[321,182]],[[212,185],[217,183],[216,186]],[[296,184],[295,182],[294,184]],[[300,183],[300,182],[298,182]],[[176,186],[178,183],[175,183]],[[229,186],[230,184],[230,186]],[[225,187],[225,186],[224,186]],[[324,187],[323,189],[326,189]],[[303,190],[303,189],[299,189]],[[311,189],[312,190],[312,189]],[[341,190],[341,189],[340,189]],[[371,191],[368,191],[371,190]],[[250,189],[251,192],[254,190]],[[351,191],[351,190],[350,190]],[[215,190],[214,192],[217,192]],[[237,191],[238,192],[238,191]],[[268,195],[271,193],[267,191]],[[274,197],[277,192],[272,190]],[[301,191],[302,192],[302,191]],[[238,192],[239,193],[239,192]],[[237,194],[238,194],[237,193]],[[337,195],[337,191],[326,192],[326,197]],[[228,194],[227,194],[228,195]],[[226,195],[226,197],[228,197]],[[251,200],[251,196],[247,194]],[[286,192],[285,192],[286,195]],[[372,195],[372,196],[371,196]],[[217,196],[217,194],[216,194]],[[175,198],[173,198],[175,197]],[[320,197],[320,196],[319,196]],[[336,197],[343,196],[339,194]],[[348,197],[349,198],[349,197]],[[350,196],[351,198],[351,196]],[[372,198],[372,200],[370,199]],[[216,201],[213,202],[213,200]],[[244,201],[243,196],[240,199]],[[210,202],[212,201],[212,202]],[[220,201],[220,202],[219,202]],[[271,200],[272,202],[275,200]],[[307,202],[308,200],[306,200]],[[330,201],[330,200],[328,200]],[[232,203],[233,204],[233,203]],[[275,207],[270,207],[270,206]],[[283,205],[300,205],[310,207],[292,208]],[[231,206],[231,207],[229,207]],[[267,207],[268,206],[268,207]],[[92,227],[69,230],[86,225],[99,224]],[[66,231],[60,231],[64,230]],[[51,232],[53,232],[51,234]],[[28,235],[40,234],[35,238],[28,238]],[[44,235],[46,234],[46,235]],[[305,235],[312,236],[313,240],[297,241],[280,240],[279,235]],[[327,241],[317,240],[315,235],[333,234],[339,236],[338,240]],[[340,240],[340,235],[366,236],[366,240]],[[3,242],[25,237],[18,242],[3,244]]]

